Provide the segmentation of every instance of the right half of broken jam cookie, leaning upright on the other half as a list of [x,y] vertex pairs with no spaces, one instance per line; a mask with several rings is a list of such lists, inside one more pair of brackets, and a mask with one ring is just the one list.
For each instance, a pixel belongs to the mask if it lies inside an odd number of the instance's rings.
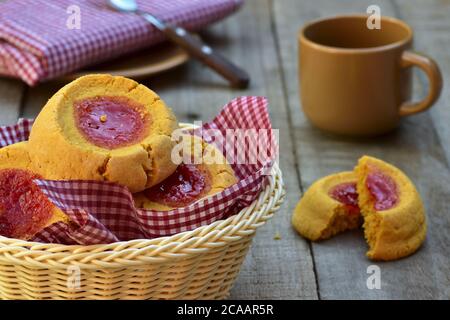
[[364,156],[355,168],[358,203],[364,216],[367,256],[394,260],[415,252],[425,240],[425,210],[416,187],[396,167]]

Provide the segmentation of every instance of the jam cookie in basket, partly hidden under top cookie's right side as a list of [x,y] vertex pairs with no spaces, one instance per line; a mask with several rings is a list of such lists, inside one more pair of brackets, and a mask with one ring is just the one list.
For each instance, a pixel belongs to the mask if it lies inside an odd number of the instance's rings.
[[[237,182],[233,169],[217,148],[198,137],[189,136],[183,139],[182,143],[185,145],[196,143],[198,148],[189,150],[187,147],[184,151],[196,154],[197,159],[204,161],[201,164],[181,163],[166,180],[135,194],[136,207],[159,211],[185,207],[201,198],[221,192]],[[213,157],[210,160],[213,161],[208,161],[206,156],[211,155]],[[191,155],[188,155],[188,159],[191,159]]]

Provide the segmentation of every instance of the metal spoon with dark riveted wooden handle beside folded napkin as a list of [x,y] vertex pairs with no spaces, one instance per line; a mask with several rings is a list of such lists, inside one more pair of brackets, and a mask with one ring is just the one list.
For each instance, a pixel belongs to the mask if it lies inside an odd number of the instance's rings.
[[191,56],[197,58],[222,75],[232,86],[242,89],[248,87],[250,78],[247,72],[214,51],[210,46],[190,34],[187,30],[181,27],[171,26],[154,15],[140,10],[135,0],[107,0],[107,2],[111,8],[117,11],[134,13],[145,18],[162,31],[170,41],[178,44],[189,52]]

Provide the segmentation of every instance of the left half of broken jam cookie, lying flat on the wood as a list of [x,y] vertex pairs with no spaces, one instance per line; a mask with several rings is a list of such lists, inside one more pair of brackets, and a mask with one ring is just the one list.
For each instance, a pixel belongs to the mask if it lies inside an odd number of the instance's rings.
[[356,229],[361,222],[353,172],[337,173],[316,181],[300,199],[292,216],[294,228],[313,241]]

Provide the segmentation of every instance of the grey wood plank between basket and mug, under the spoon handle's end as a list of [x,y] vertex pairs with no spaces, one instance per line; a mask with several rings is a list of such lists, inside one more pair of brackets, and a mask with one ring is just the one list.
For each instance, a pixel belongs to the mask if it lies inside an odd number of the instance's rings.
[[[174,109],[180,121],[188,122],[211,119],[235,96],[265,95],[271,101],[273,125],[282,130],[281,167],[288,188],[287,200],[274,219],[258,231],[231,298],[315,299],[317,291],[309,245],[297,237],[289,223],[300,189],[272,34],[270,2],[247,1],[241,12],[212,27],[204,37],[250,71],[250,89],[231,90],[221,78],[195,61],[148,79],[149,87]],[[24,114],[35,116],[58,86],[51,83],[31,89]],[[276,241],[273,238],[278,232],[281,240]]]

